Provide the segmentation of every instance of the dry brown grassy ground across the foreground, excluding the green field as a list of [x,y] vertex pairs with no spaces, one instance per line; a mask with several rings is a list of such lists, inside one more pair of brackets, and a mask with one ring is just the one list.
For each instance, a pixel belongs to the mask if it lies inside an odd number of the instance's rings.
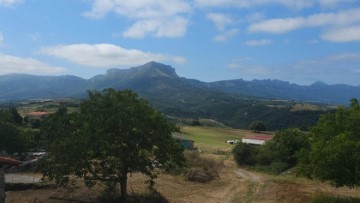
[[[129,178],[129,193],[146,192],[141,174],[132,174]],[[49,197],[74,198],[96,202],[102,188],[87,189],[78,186],[74,191],[66,189],[41,189],[7,192],[7,203],[64,202]],[[156,189],[170,202],[309,202],[311,196],[319,193],[334,196],[352,196],[360,198],[360,188],[335,188],[303,178],[271,176],[245,169],[238,169],[228,159],[218,180],[210,183],[184,181],[182,176],[159,174]]]

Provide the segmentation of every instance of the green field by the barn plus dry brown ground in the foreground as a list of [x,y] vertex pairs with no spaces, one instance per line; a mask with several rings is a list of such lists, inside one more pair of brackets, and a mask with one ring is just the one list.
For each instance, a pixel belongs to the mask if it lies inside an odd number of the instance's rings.
[[[159,173],[157,191],[169,202],[311,202],[316,195],[360,198],[360,188],[335,188],[327,183],[295,177],[292,174],[272,176],[247,169],[239,169],[233,161],[231,149],[226,144],[231,139],[241,139],[252,132],[226,128],[182,127],[187,139],[195,141],[200,156],[223,161],[220,177],[209,183],[194,183],[182,175]],[[130,194],[146,193],[145,177],[129,177]],[[87,189],[79,183],[73,190],[49,188],[7,192],[6,202],[65,202],[50,197],[96,202],[100,186]]]

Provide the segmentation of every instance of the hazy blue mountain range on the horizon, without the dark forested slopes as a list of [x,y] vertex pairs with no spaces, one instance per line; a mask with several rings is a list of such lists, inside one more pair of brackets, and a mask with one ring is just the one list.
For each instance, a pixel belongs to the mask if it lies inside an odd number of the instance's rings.
[[169,65],[149,62],[130,69],[109,69],[91,79],[76,76],[35,76],[7,74],[0,76],[0,100],[31,98],[82,97],[86,90],[104,88],[132,89],[139,94],[202,95],[209,92],[235,94],[266,99],[285,99],[301,102],[348,104],[351,98],[360,97],[360,86],[327,85],[316,82],[309,86],[280,80],[224,80],[202,82],[179,77]]

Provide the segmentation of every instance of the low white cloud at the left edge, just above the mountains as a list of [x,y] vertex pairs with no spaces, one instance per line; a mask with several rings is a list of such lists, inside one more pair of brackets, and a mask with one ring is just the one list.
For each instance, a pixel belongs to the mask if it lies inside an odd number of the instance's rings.
[[67,70],[63,67],[54,67],[33,58],[21,58],[0,54],[0,74],[31,73],[31,74],[57,74]]

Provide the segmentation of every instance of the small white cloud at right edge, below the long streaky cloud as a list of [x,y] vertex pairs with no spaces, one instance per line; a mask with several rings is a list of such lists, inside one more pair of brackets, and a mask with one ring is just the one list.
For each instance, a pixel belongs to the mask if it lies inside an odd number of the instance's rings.
[[360,25],[332,29],[323,34],[321,39],[332,42],[360,41]]

